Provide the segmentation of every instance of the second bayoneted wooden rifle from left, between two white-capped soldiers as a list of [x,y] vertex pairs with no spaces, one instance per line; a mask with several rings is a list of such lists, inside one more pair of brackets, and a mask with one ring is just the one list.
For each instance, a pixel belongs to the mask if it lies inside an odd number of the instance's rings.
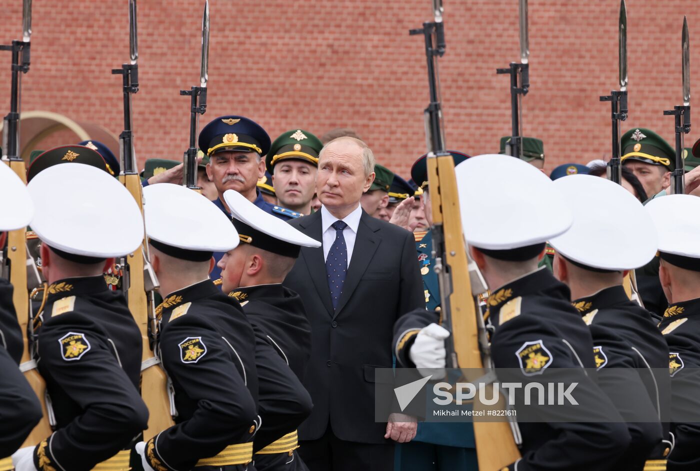
[[[129,43],[130,63],[122,64],[121,69],[112,69],[112,73],[122,76],[124,94],[124,130],[119,135],[120,164],[122,171],[119,181],[125,185],[136,202],[144,211],[144,199],[141,193],[141,178],[137,171],[136,155],[132,134],[132,94],[139,91],[139,49],[137,43],[137,10],[136,0],[129,0]],[[148,239],[144,232],[144,243],[141,251],[130,253],[120,260],[123,271],[122,290],[129,303],[129,310],[139,325],[143,338],[141,353],[141,395],[148,407],[148,430],[144,432],[144,440],[165,430],[174,424],[167,394],[167,377],[158,367],[160,359],[153,352],[155,348],[156,316],[153,292],[158,288],[150,259],[148,258]]]

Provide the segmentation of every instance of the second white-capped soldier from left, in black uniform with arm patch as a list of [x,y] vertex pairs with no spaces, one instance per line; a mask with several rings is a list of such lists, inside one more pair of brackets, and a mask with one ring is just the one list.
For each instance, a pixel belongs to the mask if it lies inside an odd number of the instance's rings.
[[[109,290],[102,276],[113,258],[139,248],[141,211],[99,165],[59,164],[77,157],[104,166],[96,151],[66,146],[47,150],[30,167],[31,228],[48,282],[34,319],[34,349],[55,432],[13,456],[18,471],[128,468],[132,441],[148,421],[139,394],[141,334],[123,294]],[[95,204],[104,195],[109,211]]]

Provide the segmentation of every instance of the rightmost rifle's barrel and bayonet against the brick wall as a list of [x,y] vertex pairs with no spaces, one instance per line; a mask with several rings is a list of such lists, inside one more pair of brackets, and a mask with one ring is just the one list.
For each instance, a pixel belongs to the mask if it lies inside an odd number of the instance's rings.
[[683,105],[674,106],[672,110],[664,111],[664,115],[675,116],[675,169],[671,174],[671,193],[682,195],[685,192],[683,175],[685,164],[683,162],[684,134],[690,132],[690,42],[688,37],[688,20],[683,16],[683,29],[681,33],[682,50],[682,75],[683,75]]

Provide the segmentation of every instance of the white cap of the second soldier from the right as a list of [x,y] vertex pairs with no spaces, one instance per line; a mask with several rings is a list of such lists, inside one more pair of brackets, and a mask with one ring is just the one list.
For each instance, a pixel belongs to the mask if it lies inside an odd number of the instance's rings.
[[592,175],[554,181],[573,211],[573,225],[549,239],[574,262],[605,270],[642,267],[657,251],[657,230],[644,206],[629,191]]

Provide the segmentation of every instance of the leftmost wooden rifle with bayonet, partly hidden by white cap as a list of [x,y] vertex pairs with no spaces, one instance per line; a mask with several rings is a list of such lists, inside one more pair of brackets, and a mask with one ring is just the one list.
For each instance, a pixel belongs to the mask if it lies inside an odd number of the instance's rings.
[[[20,134],[20,81],[21,73],[29,71],[31,50],[31,0],[24,0],[22,5],[22,41],[12,41],[11,45],[0,45],[0,50],[12,52],[12,85],[10,92],[10,113],[3,121],[3,156],[2,160],[8,162],[10,169],[13,169],[25,184],[27,183],[27,171],[25,161],[20,157],[19,134]],[[20,323],[23,336],[24,349],[20,370],[24,372],[25,378],[29,382],[31,389],[38,398],[43,399],[46,391],[46,384],[41,374],[36,370],[36,362],[31,358],[29,349],[29,337],[31,325],[29,325],[29,286],[41,284],[36,271],[34,259],[29,255],[27,249],[27,228],[8,232],[7,247],[0,255],[0,269],[3,278],[7,278],[13,284],[13,304],[17,313],[17,320]],[[30,272],[31,270],[31,272]],[[28,275],[31,275],[31,283],[28,282]],[[31,430],[31,433],[22,444],[22,447],[29,447],[41,442],[51,435],[51,426],[48,419],[46,405],[43,400],[41,409],[43,417],[41,421]]]

